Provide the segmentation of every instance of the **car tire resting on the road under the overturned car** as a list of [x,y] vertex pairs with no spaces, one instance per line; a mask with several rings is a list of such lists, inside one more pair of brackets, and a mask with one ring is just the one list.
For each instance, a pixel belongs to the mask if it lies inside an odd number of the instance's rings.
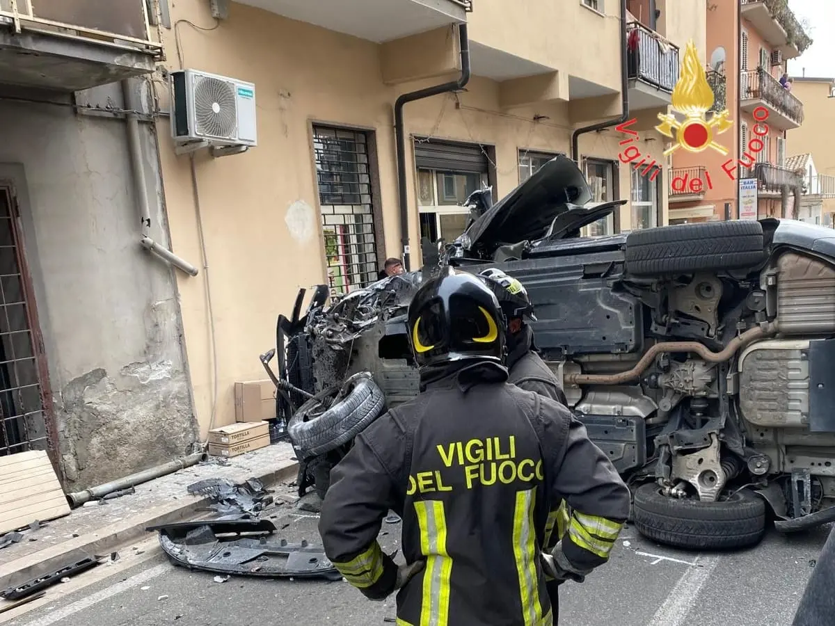
[[741,489],[720,502],[667,497],[654,482],[635,491],[635,528],[675,548],[726,550],[756,545],[766,529],[766,502]]

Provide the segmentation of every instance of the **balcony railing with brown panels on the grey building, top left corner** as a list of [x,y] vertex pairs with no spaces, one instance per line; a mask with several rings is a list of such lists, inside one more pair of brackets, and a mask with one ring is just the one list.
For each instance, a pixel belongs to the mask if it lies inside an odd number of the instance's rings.
[[11,23],[15,33],[47,33],[164,58],[159,0],[105,4],[106,9],[99,0],[0,0],[0,21]]

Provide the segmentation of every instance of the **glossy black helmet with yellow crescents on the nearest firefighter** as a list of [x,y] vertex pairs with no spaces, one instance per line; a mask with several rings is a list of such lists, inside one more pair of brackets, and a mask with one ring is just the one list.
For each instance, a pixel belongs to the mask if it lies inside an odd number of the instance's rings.
[[408,324],[419,367],[504,362],[507,321],[496,295],[475,275],[450,267],[423,283],[409,305]]

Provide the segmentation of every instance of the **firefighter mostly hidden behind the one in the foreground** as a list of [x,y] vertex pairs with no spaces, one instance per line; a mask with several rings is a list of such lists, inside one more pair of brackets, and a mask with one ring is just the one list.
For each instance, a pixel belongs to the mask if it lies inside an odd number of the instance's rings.
[[534,330],[525,322],[525,318],[536,321],[528,290],[519,280],[496,268],[480,275],[488,280],[508,320],[508,356],[504,363],[509,371],[508,382],[568,406],[562,385],[534,346]]

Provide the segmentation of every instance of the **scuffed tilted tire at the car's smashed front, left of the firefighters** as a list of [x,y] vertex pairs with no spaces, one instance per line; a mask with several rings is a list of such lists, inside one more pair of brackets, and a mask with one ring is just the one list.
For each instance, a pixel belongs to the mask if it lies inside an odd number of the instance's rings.
[[[328,396],[334,396],[330,406]],[[351,376],[338,393],[333,388],[299,407],[287,425],[291,441],[305,457],[314,457],[350,442],[382,413],[385,397],[371,374]],[[327,406],[327,407],[326,407]]]

